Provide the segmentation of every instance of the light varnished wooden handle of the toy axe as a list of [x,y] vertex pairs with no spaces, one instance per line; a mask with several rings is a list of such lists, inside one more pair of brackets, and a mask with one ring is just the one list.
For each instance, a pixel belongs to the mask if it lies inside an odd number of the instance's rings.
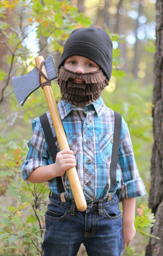
[[[35,62],[36,62],[36,66],[39,68],[41,62],[44,61],[44,57],[43,56],[38,56],[35,58]],[[42,72],[46,75],[46,69],[43,65],[42,67]],[[45,82],[45,78],[43,78],[41,76],[41,83]],[[54,100],[54,96],[53,96],[53,92],[52,92],[52,87],[50,85],[46,85],[43,86],[43,91],[46,97],[46,101],[47,101],[47,105],[50,111],[50,115],[52,118],[52,122],[53,122],[53,126],[54,126],[54,130],[56,133],[56,137],[58,140],[58,144],[60,147],[60,150],[63,149],[70,149],[68,142],[67,142],[67,138],[66,138],[66,134],[65,131],[63,129],[63,125],[60,119],[60,115],[58,112],[58,108],[55,104],[55,100]],[[73,196],[74,196],[74,200],[76,203],[76,207],[79,211],[85,211],[87,208],[87,203],[81,188],[81,183],[76,171],[76,168],[70,168],[67,170],[67,176],[68,176],[68,180],[70,182],[70,186],[73,192]]]

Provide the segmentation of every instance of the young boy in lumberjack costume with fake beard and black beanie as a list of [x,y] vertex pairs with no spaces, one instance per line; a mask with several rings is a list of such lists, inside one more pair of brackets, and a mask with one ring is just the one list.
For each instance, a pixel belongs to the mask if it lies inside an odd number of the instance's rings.
[[[58,152],[54,164],[39,118],[33,121],[22,173],[30,182],[49,180],[52,193],[45,216],[44,256],[75,256],[81,243],[89,256],[120,256],[136,233],[135,197],[146,192],[123,118],[116,184],[108,201],[114,111],[105,106],[100,95],[111,72],[112,43],[107,33],[99,28],[74,30],[65,43],[58,75],[62,95],[58,110],[70,150]],[[49,112],[47,116],[58,147]],[[66,171],[74,166],[87,201],[84,212],[75,207],[67,180]],[[62,176],[66,202],[60,200],[57,176]],[[118,198],[122,200],[123,220]]]

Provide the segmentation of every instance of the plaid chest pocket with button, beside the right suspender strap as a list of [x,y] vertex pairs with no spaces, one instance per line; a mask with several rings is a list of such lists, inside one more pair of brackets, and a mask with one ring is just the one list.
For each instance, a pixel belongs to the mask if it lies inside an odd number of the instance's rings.
[[113,147],[113,134],[103,133],[98,135],[101,160],[110,165]]

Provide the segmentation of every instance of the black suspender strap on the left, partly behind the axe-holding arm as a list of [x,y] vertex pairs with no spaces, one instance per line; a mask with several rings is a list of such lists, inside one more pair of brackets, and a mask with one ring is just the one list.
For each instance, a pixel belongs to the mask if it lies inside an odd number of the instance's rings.
[[[47,118],[46,113],[39,116],[39,119],[40,119],[40,123],[42,125],[42,129],[44,130],[46,142],[47,142],[50,154],[52,156],[53,163],[55,163],[55,159],[56,159],[56,155],[57,155],[57,148],[56,148],[56,145],[55,145],[55,142],[54,142],[52,129],[50,127],[49,120]],[[62,182],[62,178],[61,177],[56,177],[56,180],[57,180],[58,193],[61,194],[61,193],[65,192],[63,182]]]

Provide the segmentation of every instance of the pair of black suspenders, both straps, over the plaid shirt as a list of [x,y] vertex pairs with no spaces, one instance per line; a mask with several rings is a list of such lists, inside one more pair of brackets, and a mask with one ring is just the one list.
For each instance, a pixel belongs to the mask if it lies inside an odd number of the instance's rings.
[[[49,151],[52,156],[53,163],[55,163],[57,148],[54,142],[53,133],[49,124],[49,120],[47,118],[46,113],[39,116],[39,118],[40,118],[42,128],[44,130],[46,142],[49,147]],[[110,164],[110,189],[109,189],[110,195],[112,194],[111,192],[114,191],[114,187],[116,183],[116,170],[117,170],[119,142],[120,142],[120,135],[121,135],[121,123],[122,123],[121,114],[114,111],[114,135],[113,135],[113,148],[112,148],[111,164]],[[57,180],[58,192],[60,194],[65,192],[61,177],[56,177],[56,180]]]

